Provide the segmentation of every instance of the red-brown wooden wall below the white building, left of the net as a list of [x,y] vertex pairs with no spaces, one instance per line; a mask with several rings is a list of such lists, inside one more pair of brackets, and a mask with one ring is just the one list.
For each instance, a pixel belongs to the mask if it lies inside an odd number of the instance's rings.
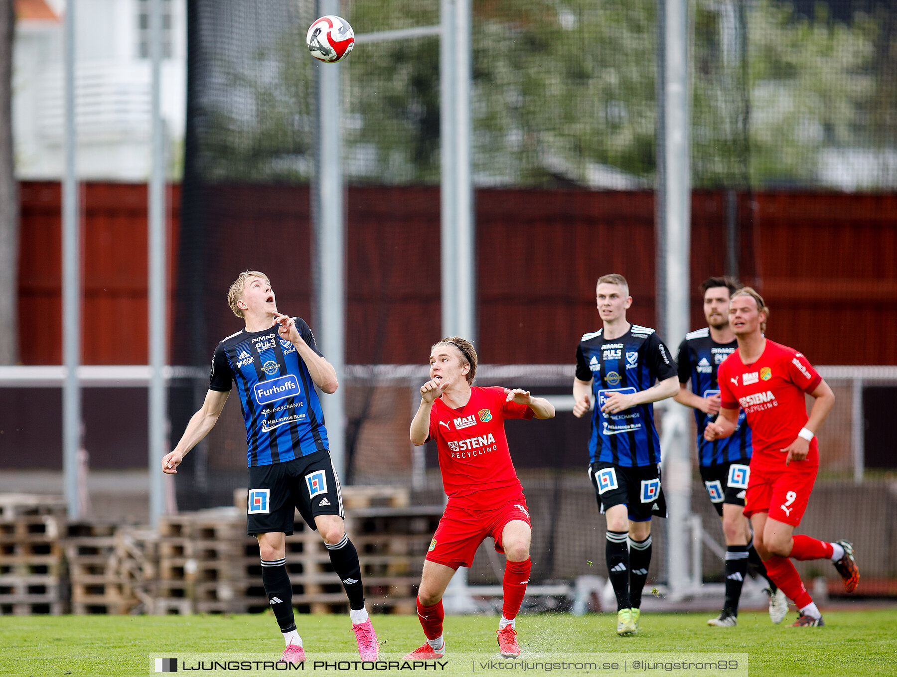
[[[87,183],[81,185],[79,195],[83,363],[146,364],[146,187]],[[167,199],[169,260],[173,262],[178,251],[180,187],[170,186]],[[25,182],[21,200],[20,360],[61,364],[62,193],[57,182]],[[169,265],[169,299],[174,273]]]

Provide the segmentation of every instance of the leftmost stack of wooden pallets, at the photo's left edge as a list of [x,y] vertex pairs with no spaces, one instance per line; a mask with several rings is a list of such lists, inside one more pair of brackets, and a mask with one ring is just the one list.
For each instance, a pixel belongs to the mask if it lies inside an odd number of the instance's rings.
[[0,613],[63,612],[62,499],[0,494]]

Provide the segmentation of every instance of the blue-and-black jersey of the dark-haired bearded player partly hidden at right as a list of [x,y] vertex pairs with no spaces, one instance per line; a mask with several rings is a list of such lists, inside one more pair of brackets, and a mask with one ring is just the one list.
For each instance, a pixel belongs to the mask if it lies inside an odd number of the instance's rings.
[[[676,361],[679,363],[679,383],[692,381],[692,393],[699,397],[719,395],[717,369],[723,360],[736,351],[738,342],[717,343],[710,338],[710,329],[704,327],[689,334],[679,345]],[[750,461],[751,429],[745,420],[744,410],[738,412],[735,432],[731,436],[708,442],[704,439],[704,429],[716,416],[710,416],[700,409],[694,410],[694,421],[698,424],[698,464],[701,467],[723,463]]]

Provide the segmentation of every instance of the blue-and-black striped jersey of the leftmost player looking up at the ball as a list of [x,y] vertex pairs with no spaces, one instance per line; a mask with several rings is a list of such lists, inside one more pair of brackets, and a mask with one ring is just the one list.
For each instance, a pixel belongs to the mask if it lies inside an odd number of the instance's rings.
[[[309,325],[296,329],[318,355]],[[322,356],[323,357],[323,356]],[[327,429],[318,391],[296,346],[277,334],[277,325],[260,332],[245,329],[215,348],[211,390],[228,392],[237,382],[246,423],[247,463],[270,465],[327,450]]]

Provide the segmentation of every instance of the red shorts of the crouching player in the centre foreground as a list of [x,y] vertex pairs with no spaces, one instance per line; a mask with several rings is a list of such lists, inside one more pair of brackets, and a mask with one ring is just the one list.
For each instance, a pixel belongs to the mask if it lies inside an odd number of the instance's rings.
[[474,563],[476,549],[486,536],[495,539],[495,551],[504,552],[501,532],[515,519],[532,527],[526,499],[515,499],[494,510],[448,506],[442,514],[440,525],[436,527],[436,534],[433,534],[427,560],[452,569],[470,567]]

